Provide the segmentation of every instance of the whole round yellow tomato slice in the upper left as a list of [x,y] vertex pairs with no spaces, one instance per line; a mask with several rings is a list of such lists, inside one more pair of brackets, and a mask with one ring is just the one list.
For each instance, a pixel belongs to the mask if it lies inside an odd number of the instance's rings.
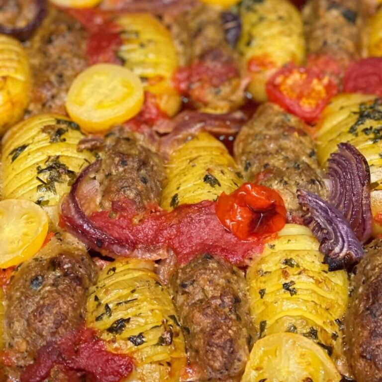
[[71,118],[85,131],[106,131],[136,115],[143,104],[139,77],[114,64],[97,64],[73,81],[66,99]]

